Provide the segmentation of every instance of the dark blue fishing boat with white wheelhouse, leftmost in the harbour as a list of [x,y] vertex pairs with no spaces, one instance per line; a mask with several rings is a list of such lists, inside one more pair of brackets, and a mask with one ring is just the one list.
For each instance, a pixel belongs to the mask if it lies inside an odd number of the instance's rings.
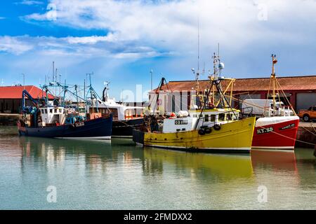
[[[46,96],[48,92],[46,92]],[[33,106],[25,106],[25,97]],[[112,114],[90,119],[74,108],[53,105],[46,99],[33,99],[22,92],[22,119],[18,122],[20,135],[58,139],[111,139]]]

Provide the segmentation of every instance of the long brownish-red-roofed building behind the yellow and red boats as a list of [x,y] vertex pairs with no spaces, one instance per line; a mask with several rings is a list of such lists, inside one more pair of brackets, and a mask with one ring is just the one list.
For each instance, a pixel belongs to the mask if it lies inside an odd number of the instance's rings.
[[[316,105],[316,76],[289,76],[278,77],[288,101],[296,111],[308,109]],[[270,78],[237,78],[233,86],[232,94],[237,99],[267,99],[271,98],[272,89],[269,92]],[[168,85],[168,86],[167,86]],[[164,107],[166,112],[178,112],[190,108],[192,95],[196,95],[196,81],[170,81],[163,85],[159,91],[159,106]],[[223,90],[228,85],[228,81],[222,82]],[[199,80],[199,93],[202,94],[210,87],[209,80]],[[156,90],[150,91],[150,104],[157,102]],[[269,96],[268,96],[269,92]],[[230,94],[230,89],[228,90]],[[287,105],[287,99],[279,91],[280,99]],[[278,99],[278,97],[277,97]],[[240,104],[234,103],[232,106],[240,108]]]

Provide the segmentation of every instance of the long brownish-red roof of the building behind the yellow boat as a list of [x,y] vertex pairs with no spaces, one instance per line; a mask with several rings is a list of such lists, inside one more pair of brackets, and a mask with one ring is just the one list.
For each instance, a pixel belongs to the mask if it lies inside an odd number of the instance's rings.
[[[284,91],[316,90],[316,76],[279,77],[277,80]],[[270,78],[237,78],[233,90],[236,92],[268,91],[269,83]],[[224,80],[222,82],[224,90],[227,85],[228,80]],[[171,91],[191,91],[195,90],[196,83],[195,80],[170,81],[168,86]],[[209,80],[199,80],[200,90],[205,90],[209,88],[209,86]],[[166,85],[162,87],[162,90],[167,90]],[[270,90],[272,90],[271,87]]]

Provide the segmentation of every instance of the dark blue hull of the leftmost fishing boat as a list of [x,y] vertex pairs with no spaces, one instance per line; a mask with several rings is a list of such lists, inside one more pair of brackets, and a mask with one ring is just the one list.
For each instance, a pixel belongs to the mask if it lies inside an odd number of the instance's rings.
[[54,127],[19,127],[20,135],[59,139],[110,139],[112,116],[84,122],[84,125],[60,125]]

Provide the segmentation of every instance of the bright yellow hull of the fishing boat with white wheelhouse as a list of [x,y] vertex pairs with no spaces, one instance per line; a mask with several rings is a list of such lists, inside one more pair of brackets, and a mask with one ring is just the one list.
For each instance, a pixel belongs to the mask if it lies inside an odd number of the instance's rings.
[[246,118],[200,135],[198,130],[176,133],[145,133],[144,146],[220,151],[250,151],[256,118]]

